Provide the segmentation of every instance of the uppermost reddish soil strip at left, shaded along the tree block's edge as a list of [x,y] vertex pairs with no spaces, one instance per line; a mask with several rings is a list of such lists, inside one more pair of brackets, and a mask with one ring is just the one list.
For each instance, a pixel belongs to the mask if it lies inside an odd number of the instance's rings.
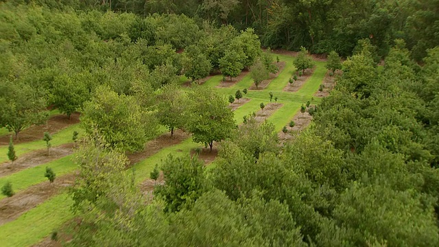
[[[70,126],[71,124],[78,124],[80,122],[80,114],[73,113],[71,118],[66,115],[55,115],[47,121],[46,124],[39,126],[31,126],[19,133],[19,139],[14,139],[14,144],[24,143],[27,141],[43,140],[43,133],[50,132],[51,134]],[[14,137],[15,138],[15,137]],[[8,145],[10,134],[5,134],[0,137],[0,145]]]

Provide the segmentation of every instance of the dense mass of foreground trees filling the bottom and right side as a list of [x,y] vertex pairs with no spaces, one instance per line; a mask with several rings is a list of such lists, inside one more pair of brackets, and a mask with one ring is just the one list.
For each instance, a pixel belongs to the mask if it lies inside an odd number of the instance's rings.
[[153,199],[92,135],[78,152],[83,220],[69,245],[438,246],[439,52],[419,67],[395,43],[382,71],[363,43],[291,143],[249,116],[211,169],[170,155],[151,173],[165,180]]

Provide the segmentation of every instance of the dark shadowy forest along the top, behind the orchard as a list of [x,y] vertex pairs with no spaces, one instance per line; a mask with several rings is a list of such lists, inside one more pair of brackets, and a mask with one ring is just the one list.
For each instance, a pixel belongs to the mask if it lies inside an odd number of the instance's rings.
[[59,1],[38,0],[51,8],[98,8],[132,12],[185,14],[237,30],[252,27],[264,47],[312,53],[337,51],[351,56],[357,40],[370,39],[379,56],[388,54],[393,40],[403,38],[412,56],[420,61],[426,49],[439,45],[438,0],[291,1],[291,0],[154,0]]

